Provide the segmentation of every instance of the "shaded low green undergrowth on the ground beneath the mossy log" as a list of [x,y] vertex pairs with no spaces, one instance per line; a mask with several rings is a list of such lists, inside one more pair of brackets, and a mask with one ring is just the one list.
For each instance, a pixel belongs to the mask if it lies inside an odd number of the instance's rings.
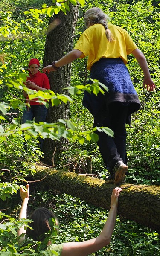
[[[108,216],[105,209],[97,208],[67,194],[53,194],[53,191],[36,192],[36,199],[31,199],[30,206],[32,210],[36,207],[54,209],[60,225],[56,244],[85,241],[98,236]],[[159,255],[158,233],[134,221],[120,220],[117,216],[110,245],[92,255],[136,256],[146,255],[146,251],[148,255]]]

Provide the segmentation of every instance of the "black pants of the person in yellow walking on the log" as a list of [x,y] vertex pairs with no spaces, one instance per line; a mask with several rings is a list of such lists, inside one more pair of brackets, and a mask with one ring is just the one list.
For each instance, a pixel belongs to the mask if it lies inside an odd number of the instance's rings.
[[108,106],[108,115],[103,122],[94,120],[93,127],[95,126],[107,126],[114,131],[114,138],[105,134],[105,132],[96,131],[99,135],[97,142],[99,151],[102,155],[103,161],[106,167],[109,167],[109,172],[112,173],[112,169],[115,164],[122,160],[127,164],[126,155],[126,128],[125,123],[128,117],[128,104],[121,102],[113,102]]

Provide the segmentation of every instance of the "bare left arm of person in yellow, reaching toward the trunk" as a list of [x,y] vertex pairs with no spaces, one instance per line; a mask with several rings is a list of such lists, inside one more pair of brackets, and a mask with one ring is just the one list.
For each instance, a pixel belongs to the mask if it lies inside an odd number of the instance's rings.
[[[79,50],[72,50],[71,52],[68,52],[63,58],[61,58],[59,61],[56,61],[55,63],[55,67],[62,67],[74,60],[76,60],[77,58],[79,58],[81,56],[82,52]],[[46,67],[44,67],[42,69],[43,72],[48,71],[48,73],[50,73],[50,71],[56,71],[52,65],[48,65]]]

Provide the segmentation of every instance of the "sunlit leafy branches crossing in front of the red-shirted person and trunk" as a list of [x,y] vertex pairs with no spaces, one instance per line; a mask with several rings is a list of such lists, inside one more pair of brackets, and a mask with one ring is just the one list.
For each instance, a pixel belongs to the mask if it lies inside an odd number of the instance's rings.
[[[31,90],[25,87],[23,82],[26,80],[26,75],[25,74],[19,74],[19,73],[10,73],[6,78],[2,81],[2,87],[8,86],[8,87],[15,87],[17,89],[23,89],[26,91],[26,93],[29,95],[29,99],[32,100],[34,98],[38,98],[38,102],[43,103],[48,107],[48,103],[45,101],[51,101],[52,106],[54,105],[59,105],[61,102],[67,103],[72,102],[72,99],[64,94],[55,94],[51,90],[46,90],[46,91],[35,91]],[[3,85],[3,82],[5,82],[5,85]],[[93,80],[93,84],[88,84],[86,87],[77,85],[76,88],[78,88],[78,92],[80,93],[81,90],[87,90],[89,93],[93,92],[94,94],[97,95],[97,93],[104,93],[102,90],[103,87],[104,90],[108,91],[108,88],[99,83],[99,81]],[[26,103],[24,103],[20,99],[15,99],[13,98],[10,100],[10,104],[1,104],[0,109],[3,113],[3,115],[6,115],[6,109],[9,108],[14,108],[14,109],[23,109]],[[2,116],[1,119],[4,120],[4,117]],[[66,130],[66,126],[70,128],[70,130]],[[84,138],[83,136],[86,137],[87,140],[93,140],[97,141],[98,136],[94,133],[96,129],[99,129],[99,131],[104,131],[108,135],[113,136],[113,132],[111,129],[108,128],[94,128],[92,131],[81,131],[79,134],[74,134],[76,127],[75,125],[68,121],[68,120],[59,120],[58,123],[43,123],[40,122],[39,124],[36,124],[34,122],[27,122],[25,124],[19,125],[18,120],[12,120],[12,124],[7,124],[6,122],[3,123],[3,126],[0,125],[0,139],[1,140],[6,140],[6,138],[16,136],[21,136],[22,134],[25,135],[25,139],[29,140],[30,138],[38,138],[43,137],[45,138],[50,138],[52,140],[59,140],[60,137],[64,137],[70,140],[79,140],[79,143],[83,144],[84,143]]]

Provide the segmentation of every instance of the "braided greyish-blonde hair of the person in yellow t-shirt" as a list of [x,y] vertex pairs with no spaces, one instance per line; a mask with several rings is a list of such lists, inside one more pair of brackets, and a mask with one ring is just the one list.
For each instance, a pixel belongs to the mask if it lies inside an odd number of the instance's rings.
[[107,20],[108,20],[108,15],[106,15],[102,9],[99,7],[93,7],[87,10],[87,12],[84,14],[84,24],[86,28],[89,26],[92,26],[94,24],[102,24],[102,26],[105,27],[105,33],[106,37],[109,42],[113,40],[111,31],[108,29],[107,26]]

